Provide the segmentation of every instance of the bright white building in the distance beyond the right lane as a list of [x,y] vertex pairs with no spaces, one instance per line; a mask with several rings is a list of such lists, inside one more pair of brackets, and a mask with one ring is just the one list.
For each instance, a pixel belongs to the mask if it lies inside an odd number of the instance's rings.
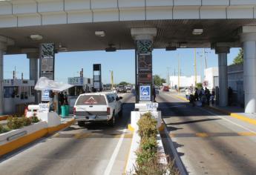
[[[195,86],[195,76],[180,76],[180,88]],[[200,81],[201,76],[197,76],[197,83]],[[170,76],[170,87],[177,89],[179,87],[179,76]]]

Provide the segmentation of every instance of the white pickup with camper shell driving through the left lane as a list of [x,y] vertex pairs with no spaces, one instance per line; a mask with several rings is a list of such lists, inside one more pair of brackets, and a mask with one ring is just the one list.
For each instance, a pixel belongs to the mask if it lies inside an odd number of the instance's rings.
[[107,122],[114,126],[115,117],[122,115],[120,99],[122,96],[111,92],[83,93],[73,107],[74,119],[81,127],[85,126],[85,122]]

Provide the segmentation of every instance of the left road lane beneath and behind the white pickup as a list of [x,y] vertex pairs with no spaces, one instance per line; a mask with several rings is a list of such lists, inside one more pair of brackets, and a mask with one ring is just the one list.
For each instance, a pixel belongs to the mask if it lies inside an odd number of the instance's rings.
[[116,126],[72,125],[0,159],[0,174],[123,174],[132,133],[126,130],[134,96],[123,96]]

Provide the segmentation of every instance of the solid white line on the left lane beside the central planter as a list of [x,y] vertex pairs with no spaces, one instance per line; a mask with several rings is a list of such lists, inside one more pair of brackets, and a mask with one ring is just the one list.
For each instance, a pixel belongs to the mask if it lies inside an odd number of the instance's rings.
[[112,156],[111,156],[111,159],[110,159],[110,161],[108,162],[108,166],[107,166],[107,168],[106,168],[105,171],[104,171],[104,175],[109,175],[109,174],[111,174],[111,170],[112,170],[112,168],[113,168],[114,162],[116,161],[117,153],[119,152],[119,149],[121,148],[121,145],[122,145],[122,141],[123,141],[123,139],[124,139],[124,137],[125,137],[125,132],[126,132],[126,130],[127,130],[127,129],[123,129],[123,130],[122,130],[122,135],[120,136],[120,139],[119,139],[119,141],[118,141],[118,143],[117,143],[117,145],[116,145],[116,148],[114,149],[114,152],[113,152],[113,154],[112,154]]

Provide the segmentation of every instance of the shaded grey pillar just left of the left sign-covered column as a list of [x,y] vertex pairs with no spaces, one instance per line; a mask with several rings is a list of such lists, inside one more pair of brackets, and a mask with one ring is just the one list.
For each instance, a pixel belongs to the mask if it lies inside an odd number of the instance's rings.
[[[38,80],[38,53],[27,53],[27,59],[30,60],[30,80],[34,80],[35,84]],[[39,95],[35,91],[35,103],[37,104],[39,102]]]

